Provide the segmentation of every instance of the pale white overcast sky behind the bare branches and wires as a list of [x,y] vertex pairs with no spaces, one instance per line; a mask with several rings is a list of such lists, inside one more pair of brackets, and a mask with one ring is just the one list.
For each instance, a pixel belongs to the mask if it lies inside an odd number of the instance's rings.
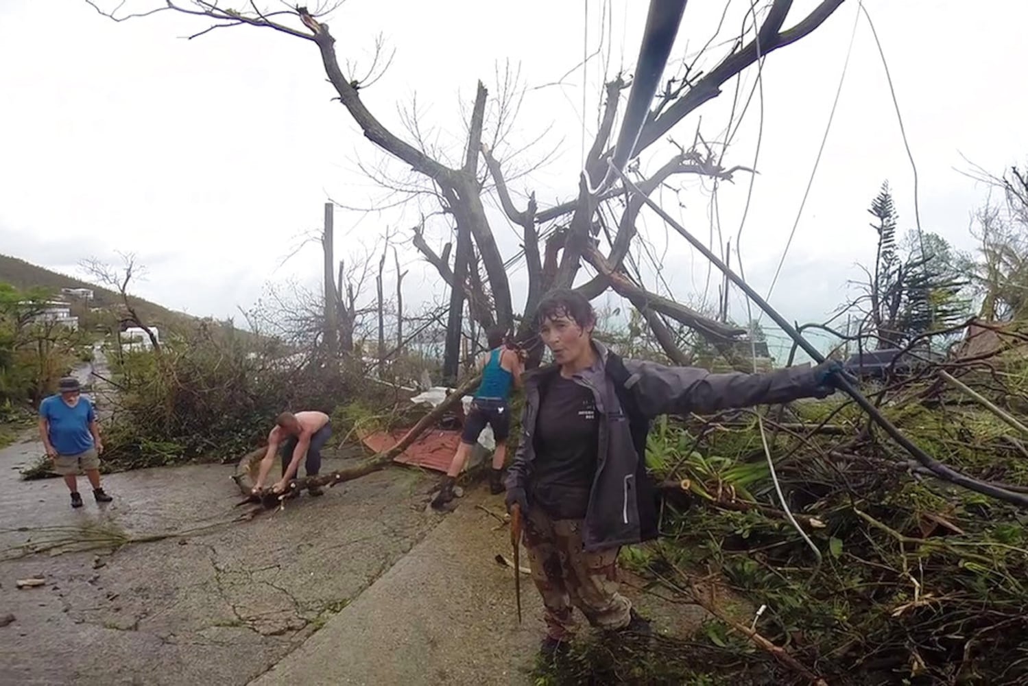
[[[128,0],[126,7],[153,4]],[[815,4],[798,0],[786,26]],[[1028,62],[1028,3],[868,0],[866,6],[917,163],[922,227],[971,249],[969,213],[986,189],[960,174],[968,169],[962,155],[995,173],[1028,157],[1028,92],[1019,85],[1020,66]],[[694,56],[713,35],[724,7],[724,0],[689,3],[675,61]],[[701,68],[724,56],[728,44],[722,43],[738,33],[748,7],[746,0],[732,3]],[[515,169],[556,150],[546,167],[512,183],[519,194],[535,190],[546,206],[575,193],[583,96],[588,145],[603,72],[631,72],[646,11],[641,0],[596,0],[588,4],[588,17],[581,2],[348,0],[327,21],[340,62],[356,61],[358,74],[375,36],[383,35],[395,57],[384,76],[361,91],[364,102],[406,137],[403,112],[413,110],[416,96],[423,132],[454,156],[461,155],[476,79],[494,95],[497,65],[502,71],[509,61],[518,68],[529,89],[498,155]],[[768,57],[763,127],[758,96],[726,153],[726,166],[751,166],[763,131],[760,174],[741,232],[745,273],[761,292],[796,219],[856,12],[849,0],[811,36]],[[431,203],[387,207],[388,196],[361,169],[394,177],[405,170],[386,163],[331,100],[315,45],[248,27],[182,38],[205,27],[171,12],[115,24],[78,0],[0,1],[0,252],[67,273],[76,273],[84,257],[113,260],[116,250],[135,252],[147,267],[136,287],[140,295],[194,315],[226,317],[252,305],[269,283],[298,279],[317,287],[318,246],[280,264],[321,225],[328,197],[378,210],[336,211],[340,257],[364,255],[388,230],[409,239]],[[587,63],[583,87],[582,70],[573,68],[584,40],[588,53],[600,51]],[[740,101],[756,78],[756,69],[744,73]],[[708,140],[723,138],[734,88],[734,81],[727,84],[672,136],[689,143],[699,127]],[[507,158],[541,135],[520,157]],[[642,168],[656,169],[669,150],[654,146]],[[911,166],[881,59],[861,17],[823,158],[771,298],[786,317],[820,320],[846,297],[847,280],[859,276],[855,263],[873,259],[876,237],[866,208],[885,179],[901,226],[913,227]],[[675,183],[677,195],[668,191],[657,200],[707,239],[710,184]],[[748,178],[739,174],[734,186],[719,191],[723,233],[733,242],[747,190]],[[487,206],[501,250],[512,255],[517,234]],[[443,231],[440,220],[430,223],[435,245],[442,244]],[[676,298],[696,301],[705,293],[714,299],[715,282],[707,285],[706,264],[685,241],[668,236],[652,215],[644,234]],[[409,245],[401,247],[401,259],[410,269],[404,281],[408,306],[442,292],[438,276]],[[644,269],[655,287],[656,274]],[[391,269],[387,280],[392,278]],[[512,269],[512,285],[520,310],[523,266]],[[743,318],[741,303],[736,298],[733,306]]]

